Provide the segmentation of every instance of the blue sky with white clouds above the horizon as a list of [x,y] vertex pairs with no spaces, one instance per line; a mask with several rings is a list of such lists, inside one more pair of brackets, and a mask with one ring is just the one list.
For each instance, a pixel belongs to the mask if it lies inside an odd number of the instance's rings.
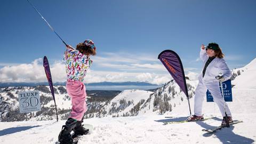
[[[160,52],[180,55],[186,75],[202,69],[201,44],[222,47],[230,69],[256,56],[256,1],[38,1],[30,0],[70,45],[92,39],[97,55],[85,78],[91,82],[148,81],[170,75]],[[0,82],[46,81],[44,55],[53,81],[65,81],[61,62],[65,45],[26,0],[1,1]]]

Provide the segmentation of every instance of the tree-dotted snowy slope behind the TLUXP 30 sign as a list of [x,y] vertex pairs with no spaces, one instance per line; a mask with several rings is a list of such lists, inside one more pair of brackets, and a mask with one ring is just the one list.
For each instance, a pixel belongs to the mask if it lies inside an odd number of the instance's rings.
[[[55,100],[58,106],[58,110],[60,109],[70,109],[70,98],[67,93],[63,93],[59,90],[60,87],[63,86],[54,86]],[[30,121],[38,121],[38,120],[49,120],[55,118],[55,108],[54,101],[52,99],[52,95],[49,89],[49,86],[37,86],[37,87],[6,87],[2,88],[0,93],[0,120],[6,120],[6,115],[13,115],[19,113],[19,101],[18,101],[18,92],[22,91],[35,91],[38,90],[41,97],[41,107],[42,111],[34,111],[33,113],[28,113],[26,116],[24,114],[19,114],[16,116],[17,119],[15,121],[23,121],[26,119]],[[6,92],[5,92],[6,91]],[[7,112],[12,112],[11,114]],[[44,112],[43,112],[44,111]],[[49,114],[46,114],[49,113]],[[15,117],[15,116],[14,116]],[[66,113],[59,113],[60,118],[65,118]],[[8,119],[7,119],[8,121]],[[13,118],[9,121],[13,121]]]

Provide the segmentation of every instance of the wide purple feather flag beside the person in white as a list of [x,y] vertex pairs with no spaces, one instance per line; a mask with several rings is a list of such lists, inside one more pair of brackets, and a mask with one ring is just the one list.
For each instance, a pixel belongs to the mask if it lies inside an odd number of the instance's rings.
[[175,82],[180,86],[180,89],[186,94],[191,115],[186,77],[179,55],[172,50],[165,50],[158,55],[158,59],[169,71]]

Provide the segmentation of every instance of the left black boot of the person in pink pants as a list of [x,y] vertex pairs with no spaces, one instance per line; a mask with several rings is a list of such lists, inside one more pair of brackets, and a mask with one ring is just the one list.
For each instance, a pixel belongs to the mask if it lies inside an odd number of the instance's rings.
[[73,144],[73,138],[71,138],[70,132],[74,130],[76,123],[76,119],[68,118],[66,125],[62,126],[58,137],[60,144]]

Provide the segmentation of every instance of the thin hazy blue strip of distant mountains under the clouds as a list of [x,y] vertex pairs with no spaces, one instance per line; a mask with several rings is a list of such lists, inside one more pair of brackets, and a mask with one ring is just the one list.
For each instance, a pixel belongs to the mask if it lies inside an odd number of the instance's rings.
[[[0,87],[8,86],[37,86],[37,85],[48,85],[48,82],[42,83],[0,83]],[[56,82],[53,85],[66,85],[66,82]],[[89,86],[111,86],[111,85],[137,85],[137,86],[157,86],[156,84],[150,84],[147,82],[101,82],[101,83],[89,83],[85,84]]]

